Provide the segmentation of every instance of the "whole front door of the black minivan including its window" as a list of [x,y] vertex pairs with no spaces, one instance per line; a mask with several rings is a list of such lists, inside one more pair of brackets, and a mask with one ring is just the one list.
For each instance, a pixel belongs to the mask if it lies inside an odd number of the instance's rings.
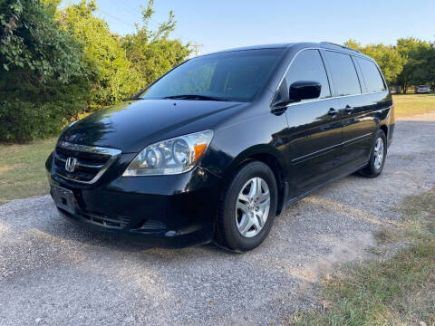
[[291,103],[285,110],[288,121],[286,155],[290,163],[291,196],[322,185],[340,167],[342,123],[340,101],[332,91],[320,52],[307,49],[298,53],[285,74],[279,92],[298,81],[320,82],[318,99]]

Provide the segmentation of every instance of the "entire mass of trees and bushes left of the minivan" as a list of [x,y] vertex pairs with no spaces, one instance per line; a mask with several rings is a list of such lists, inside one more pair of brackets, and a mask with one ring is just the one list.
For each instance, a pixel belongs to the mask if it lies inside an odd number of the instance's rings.
[[124,101],[183,62],[189,44],[169,40],[176,21],[120,37],[93,15],[95,0],[0,0],[0,141],[57,134],[83,111]]

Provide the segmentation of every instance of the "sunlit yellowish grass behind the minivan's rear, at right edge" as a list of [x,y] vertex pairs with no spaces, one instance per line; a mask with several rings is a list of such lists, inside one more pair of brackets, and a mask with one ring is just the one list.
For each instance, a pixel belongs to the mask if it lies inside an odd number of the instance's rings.
[[435,111],[435,94],[398,94],[392,95],[396,118]]

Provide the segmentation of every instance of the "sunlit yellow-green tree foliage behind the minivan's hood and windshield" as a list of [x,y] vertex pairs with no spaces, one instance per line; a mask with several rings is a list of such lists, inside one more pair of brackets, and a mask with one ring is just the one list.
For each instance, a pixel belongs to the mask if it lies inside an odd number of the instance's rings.
[[60,12],[63,28],[84,45],[83,65],[89,74],[89,110],[124,101],[161,74],[186,60],[189,44],[169,40],[176,21],[172,12],[157,31],[149,29],[153,1],[142,10],[143,24],[135,34],[120,37],[109,25],[93,16],[95,1],[82,0]]

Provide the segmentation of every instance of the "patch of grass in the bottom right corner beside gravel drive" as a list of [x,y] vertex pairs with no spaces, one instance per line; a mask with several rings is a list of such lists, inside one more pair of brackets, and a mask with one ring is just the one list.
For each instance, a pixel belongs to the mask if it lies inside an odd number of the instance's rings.
[[295,325],[435,325],[435,188],[407,197],[403,225],[382,241],[411,243],[395,256],[348,265],[323,281],[323,312],[297,312]]

